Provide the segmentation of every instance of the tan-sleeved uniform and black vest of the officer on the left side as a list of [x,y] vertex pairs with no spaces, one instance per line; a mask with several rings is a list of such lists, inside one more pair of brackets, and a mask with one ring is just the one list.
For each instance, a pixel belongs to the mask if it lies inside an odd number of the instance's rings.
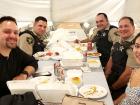
[[24,31],[20,34],[20,40],[18,42],[18,45],[20,49],[22,49],[24,52],[26,52],[29,55],[33,55],[38,51],[44,51],[44,48],[46,47],[46,43],[43,43],[44,38],[45,37],[43,36],[39,37],[33,31]]

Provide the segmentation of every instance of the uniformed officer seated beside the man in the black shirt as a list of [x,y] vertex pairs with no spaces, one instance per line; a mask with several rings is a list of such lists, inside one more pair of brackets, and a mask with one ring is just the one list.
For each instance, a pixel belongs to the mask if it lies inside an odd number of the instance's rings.
[[20,33],[20,40],[18,43],[20,49],[29,55],[33,55],[39,51],[44,51],[46,45],[43,40],[45,38],[46,28],[47,19],[42,16],[36,17],[33,29],[31,31],[25,30]]

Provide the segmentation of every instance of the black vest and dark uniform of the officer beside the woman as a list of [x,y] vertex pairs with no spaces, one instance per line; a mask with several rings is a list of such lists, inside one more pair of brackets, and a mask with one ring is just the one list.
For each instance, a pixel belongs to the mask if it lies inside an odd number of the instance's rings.
[[[111,68],[111,74],[107,78],[108,85],[110,87],[110,90],[112,92],[113,99],[116,99],[118,96],[120,96],[122,93],[124,93],[126,86],[121,87],[118,90],[112,90],[112,84],[115,83],[118,78],[121,76],[121,74],[124,72],[128,56],[132,54],[132,40],[134,39],[134,35],[132,35],[130,38],[128,38],[125,41],[119,41],[116,42],[112,46],[111,50],[111,57],[112,57],[112,68]],[[131,59],[132,60],[132,59]],[[134,61],[134,60],[133,60]],[[127,65],[129,66],[129,65]]]

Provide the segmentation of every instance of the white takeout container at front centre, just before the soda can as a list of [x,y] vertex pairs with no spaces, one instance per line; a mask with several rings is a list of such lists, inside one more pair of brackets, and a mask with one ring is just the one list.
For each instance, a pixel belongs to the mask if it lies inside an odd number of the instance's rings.
[[38,85],[37,88],[43,102],[61,103],[65,94],[76,96],[78,93],[77,87],[60,82]]

